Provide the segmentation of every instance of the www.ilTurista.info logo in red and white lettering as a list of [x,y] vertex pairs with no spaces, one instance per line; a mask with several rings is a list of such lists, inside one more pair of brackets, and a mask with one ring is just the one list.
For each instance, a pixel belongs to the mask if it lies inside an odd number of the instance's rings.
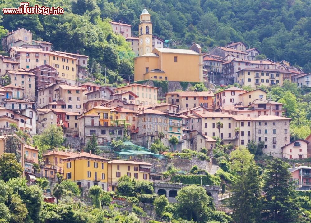
[[60,7],[45,7],[35,5],[29,7],[29,2],[21,2],[21,7],[18,8],[3,8],[3,14],[42,14],[42,15],[58,15],[63,14],[64,9]]

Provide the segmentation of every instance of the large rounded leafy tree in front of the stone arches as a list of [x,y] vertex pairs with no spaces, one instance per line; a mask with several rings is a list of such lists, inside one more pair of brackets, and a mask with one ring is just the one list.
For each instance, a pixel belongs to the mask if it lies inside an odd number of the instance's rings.
[[190,185],[177,192],[177,213],[183,219],[195,222],[208,220],[208,212],[213,208],[212,198],[207,196],[203,187]]

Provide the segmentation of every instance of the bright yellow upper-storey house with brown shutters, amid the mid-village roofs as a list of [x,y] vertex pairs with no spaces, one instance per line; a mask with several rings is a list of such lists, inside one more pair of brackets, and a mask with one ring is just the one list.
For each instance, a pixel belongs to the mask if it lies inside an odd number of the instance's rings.
[[[111,120],[114,120],[114,112],[112,111],[112,108],[108,108],[108,107],[104,107],[101,105],[95,106],[94,108],[86,111],[84,113],[84,115],[88,115],[88,114],[98,114],[99,117],[99,125],[101,126],[110,126]],[[91,125],[94,125],[94,121],[93,123],[90,123]],[[95,125],[98,125],[98,123],[95,123]]]

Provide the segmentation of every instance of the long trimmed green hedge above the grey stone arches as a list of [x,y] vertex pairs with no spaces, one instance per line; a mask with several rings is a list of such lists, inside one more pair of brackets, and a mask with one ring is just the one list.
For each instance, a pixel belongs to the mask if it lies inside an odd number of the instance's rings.
[[220,179],[219,177],[211,176],[210,174],[207,175],[182,175],[177,174],[174,176],[171,176],[172,182],[179,182],[183,184],[201,184],[201,178],[202,178],[202,185],[220,185]]

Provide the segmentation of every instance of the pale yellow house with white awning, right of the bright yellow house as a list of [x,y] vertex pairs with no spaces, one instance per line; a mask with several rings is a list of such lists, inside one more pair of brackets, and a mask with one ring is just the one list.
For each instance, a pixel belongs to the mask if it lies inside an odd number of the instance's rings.
[[108,162],[108,186],[110,191],[115,190],[118,179],[127,175],[131,179],[149,181],[152,164],[145,162],[111,160]]

